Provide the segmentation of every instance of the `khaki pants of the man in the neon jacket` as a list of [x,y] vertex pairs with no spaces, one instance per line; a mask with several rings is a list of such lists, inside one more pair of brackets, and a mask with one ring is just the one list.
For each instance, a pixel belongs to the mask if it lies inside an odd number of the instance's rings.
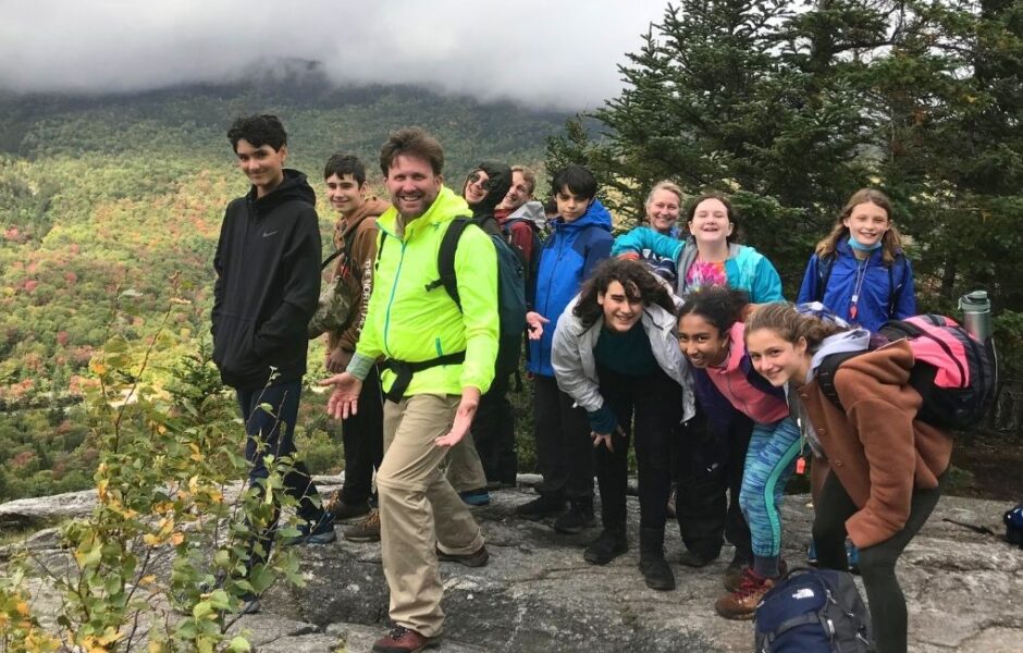
[[447,449],[433,443],[451,430],[459,401],[422,394],[384,404],[384,459],[377,489],[391,619],[426,637],[440,634],[444,626],[434,543],[451,554],[473,553],[483,545],[480,527],[441,470]]

